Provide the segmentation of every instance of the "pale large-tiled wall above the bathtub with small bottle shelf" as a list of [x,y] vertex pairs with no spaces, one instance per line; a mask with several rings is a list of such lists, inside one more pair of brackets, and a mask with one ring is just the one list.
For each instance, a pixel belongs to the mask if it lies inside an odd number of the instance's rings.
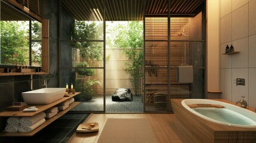
[[[220,0],[220,88],[222,98],[236,102],[245,96],[256,108],[256,0]],[[226,45],[238,54],[223,55]],[[236,86],[236,78],[245,86]]]

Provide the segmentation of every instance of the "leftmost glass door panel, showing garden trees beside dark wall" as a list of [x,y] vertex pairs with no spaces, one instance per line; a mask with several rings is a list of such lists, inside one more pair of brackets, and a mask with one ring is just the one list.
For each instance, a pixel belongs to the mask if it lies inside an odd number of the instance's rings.
[[[94,5],[102,4],[103,7]],[[67,6],[68,5],[68,6]],[[78,7],[86,15],[68,21],[71,35],[63,33],[61,41],[61,70],[63,86],[73,85],[75,101],[72,111],[104,111],[104,2],[100,0],[64,1],[63,7]],[[78,11],[76,11],[78,12]],[[75,15],[75,14],[74,14]],[[63,17],[66,20],[67,17]],[[67,24],[63,21],[62,24]],[[63,29],[67,31],[67,29]],[[66,61],[66,62],[65,62]],[[69,73],[69,74],[68,74]]]

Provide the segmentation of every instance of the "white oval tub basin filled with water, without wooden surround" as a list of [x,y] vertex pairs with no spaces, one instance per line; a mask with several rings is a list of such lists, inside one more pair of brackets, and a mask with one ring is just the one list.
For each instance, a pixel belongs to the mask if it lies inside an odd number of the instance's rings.
[[[237,105],[203,99],[183,100],[181,101],[181,104],[187,110],[193,114],[196,114],[196,116],[202,117],[203,119],[214,123],[241,128],[256,128],[256,113],[245,108],[238,107]],[[193,109],[188,106],[192,104],[215,104],[223,105],[224,108],[199,107]]]

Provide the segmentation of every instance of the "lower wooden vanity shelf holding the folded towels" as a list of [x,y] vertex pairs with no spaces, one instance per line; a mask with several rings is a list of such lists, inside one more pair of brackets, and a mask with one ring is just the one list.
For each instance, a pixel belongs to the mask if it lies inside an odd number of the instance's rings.
[[36,133],[38,133],[40,130],[44,129],[46,126],[50,125],[50,123],[54,122],[57,120],[59,117],[63,116],[64,114],[67,113],[70,109],[78,105],[80,102],[73,102],[72,104],[69,105],[69,107],[66,108],[66,110],[63,111],[58,111],[58,114],[53,116],[50,119],[45,119],[45,123],[43,123],[41,126],[33,130],[32,132],[28,133],[23,133],[23,132],[16,132],[16,133],[9,133],[9,132],[0,132],[0,136],[33,136]]

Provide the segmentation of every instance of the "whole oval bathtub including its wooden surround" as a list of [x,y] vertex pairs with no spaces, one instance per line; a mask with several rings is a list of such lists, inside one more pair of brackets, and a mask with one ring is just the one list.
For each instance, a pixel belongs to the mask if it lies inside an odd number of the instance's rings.
[[[197,111],[197,108],[190,108],[189,105],[191,104],[222,105],[224,110],[233,112],[235,116],[241,116],[242,118],[239,118],[239,120],[244,117],[249,122],[243,125],[233,121],[231,123],[226,120],[220,121],[208,117],[207,110],[207,114],[204,114]],[[256,113],[239,107],[234,102],[227,100],[171,99],[171,105],[178,122],[184,126],[187,135],[196,140],[194,142],[256,142]],[[215,110],[213,107],[200,107],[198,109],[205,112],[204,108]],[[220,110],[222,109],[220,108]],[[233,119],[232,116],[227,118]]]

